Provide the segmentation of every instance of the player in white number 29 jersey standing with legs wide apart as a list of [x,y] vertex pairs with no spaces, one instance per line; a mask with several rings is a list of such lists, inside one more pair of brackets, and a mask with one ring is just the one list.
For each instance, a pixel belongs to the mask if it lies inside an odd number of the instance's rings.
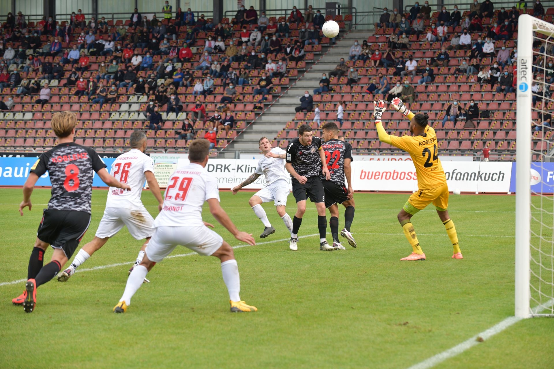
[[219,205],[217,180],[206,170],[209,142],[203,138],[192,141],[188,148],[188,159],[189,164],[181,165],[170,176],[162,210],[154,221],[154,234],[146,246],[141,263],[129,274],[125,292],[113,309],[115,313],[125,313],[148,271],[178,245],[201,255],[212,255],[220,259],[232,312],[258,310],[240,300],[239,269],[233,249],[221,236],[208,228],[213,225],[202,221],[202,205],[207,201],[213,217],[237,240],[255,245],[252,235],[237,230]]

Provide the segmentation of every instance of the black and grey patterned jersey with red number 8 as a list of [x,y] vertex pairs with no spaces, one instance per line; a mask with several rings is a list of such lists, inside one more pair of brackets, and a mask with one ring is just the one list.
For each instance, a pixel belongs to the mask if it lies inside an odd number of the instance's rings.
[[84,211],[90,214],[93,194],[93,170],[106,168],[91,148],[62,143],[40,155],[31,172],[42,176],[48,171],[52,197],[48,209]]

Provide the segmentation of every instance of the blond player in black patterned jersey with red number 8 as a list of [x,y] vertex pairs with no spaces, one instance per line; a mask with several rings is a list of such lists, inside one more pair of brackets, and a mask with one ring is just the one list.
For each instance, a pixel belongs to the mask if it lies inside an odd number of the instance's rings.
[[[37,303],[37,287],[58,274],[89,227],[93,171],[109,186],[131,189],[107,172],[106,164],[93,149],[73,142],[76,125],[77,117],[73,112],[63,111],[52,116],[52,129],[59,138],[59,144],[40,155],[23,186],[23,201],[19,205],[21,215],[25,207],[31,210],[34,185],[48,171],[52,197],[38,227],[37,240],[29,259],[25,291],[12,300],[14,305],[23,305],[27,313],[31,313]],[[48,245],[54,248],[52,261],[43,267]]]

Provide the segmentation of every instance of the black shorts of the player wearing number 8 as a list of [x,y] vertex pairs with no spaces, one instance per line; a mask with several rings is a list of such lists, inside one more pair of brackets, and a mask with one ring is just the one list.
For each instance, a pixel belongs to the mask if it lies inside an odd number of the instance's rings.
[[71,258],[89,225],[88,212],[44,209],[37,237],[53,248],[61,248]]

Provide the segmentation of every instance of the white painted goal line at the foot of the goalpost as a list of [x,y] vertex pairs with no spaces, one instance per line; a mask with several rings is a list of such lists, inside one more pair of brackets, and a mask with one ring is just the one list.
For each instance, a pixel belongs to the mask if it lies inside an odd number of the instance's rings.
[[[534,314],[540,314],[540,312],[544,309],[550,308],[552,305],[554,305],[554,299],[551,299],[550,302],[537,306],[537,308],[533,309]],[[412,365],[408,369],[428,369],[432,368],[435,365],[451,358],[454,356],[457,356],[461,354],[462,352],[471,349],[471,347],[479,345],[479,337],[483,339],[483,341],[486,341],[490,339],[495,334],[500,333],[501,331],[505,330],[506,328],[509,328],[510,326],[516,324],[518,321],[523,320],[524,318],[517,318],[516,316],[510,316],[509,318],[506,318],[502,320],[500,323],[492,326],[491,328],[471,337],[469,340],[466,340],[464,342],[461,342],[461,344],[458,344],[454,347],[451,347],[450,349],[440,352],[440,354],[437,354],[435,356],[429,357],[427,360],[424,360],[422,362],[417,363],[416,365]]]

